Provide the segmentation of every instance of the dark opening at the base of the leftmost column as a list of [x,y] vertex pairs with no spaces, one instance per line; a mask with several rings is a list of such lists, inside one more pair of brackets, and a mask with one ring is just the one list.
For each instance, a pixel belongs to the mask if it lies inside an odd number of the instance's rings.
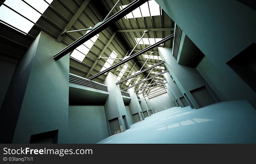
[[43,133],[33,134],[29,143],[58,143],[58,129]]

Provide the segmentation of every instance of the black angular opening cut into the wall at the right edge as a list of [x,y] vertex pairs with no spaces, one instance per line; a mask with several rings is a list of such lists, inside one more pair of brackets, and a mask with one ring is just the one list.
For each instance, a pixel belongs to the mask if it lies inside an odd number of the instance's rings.
[[227,65],[256,92],[256,44],[253,43],[227,62]]

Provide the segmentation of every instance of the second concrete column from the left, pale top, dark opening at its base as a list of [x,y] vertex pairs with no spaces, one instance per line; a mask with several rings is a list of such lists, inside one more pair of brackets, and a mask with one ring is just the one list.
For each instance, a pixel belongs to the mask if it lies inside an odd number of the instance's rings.
[[119,85],[115,83],[118,82],[116,75],[109,72],[107,75],[104,84],[108,86],[109,97],[104,105],[107,125],[109,129],[109,135],[111,135],[111,129],[109,125],[109,120],[118,118],[118,122],[120,125],[120,132],[124,132],[126,130],[125,122],[122,116],[127,115],[125,104],[122,99],[122,94]]

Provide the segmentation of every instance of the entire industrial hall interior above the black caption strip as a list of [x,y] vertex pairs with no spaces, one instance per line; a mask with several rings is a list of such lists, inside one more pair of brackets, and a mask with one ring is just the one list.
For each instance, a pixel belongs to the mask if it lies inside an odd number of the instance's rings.
[[256,143],[255,10],[0,0],[1,143]]

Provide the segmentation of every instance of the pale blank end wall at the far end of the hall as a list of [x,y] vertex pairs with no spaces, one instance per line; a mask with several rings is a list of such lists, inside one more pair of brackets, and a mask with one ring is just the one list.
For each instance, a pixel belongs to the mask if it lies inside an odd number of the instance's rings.
[[154,113],[174,107],[168,93],[161,94],[149,100],[150,104],[152,105]]

